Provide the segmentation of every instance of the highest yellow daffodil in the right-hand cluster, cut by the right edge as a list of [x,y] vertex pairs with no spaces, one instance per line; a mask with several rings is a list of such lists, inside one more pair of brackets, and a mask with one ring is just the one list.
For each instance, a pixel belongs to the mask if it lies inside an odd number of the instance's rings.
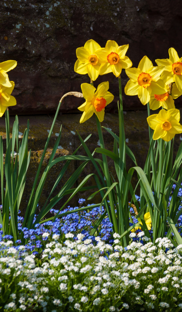
[[175,82],[177,88],[182,92],[182,57],[179,58],[174,48],[169,49],[169,59],[157,59],[157,65],[164,66],[161,79],[167,84]]

